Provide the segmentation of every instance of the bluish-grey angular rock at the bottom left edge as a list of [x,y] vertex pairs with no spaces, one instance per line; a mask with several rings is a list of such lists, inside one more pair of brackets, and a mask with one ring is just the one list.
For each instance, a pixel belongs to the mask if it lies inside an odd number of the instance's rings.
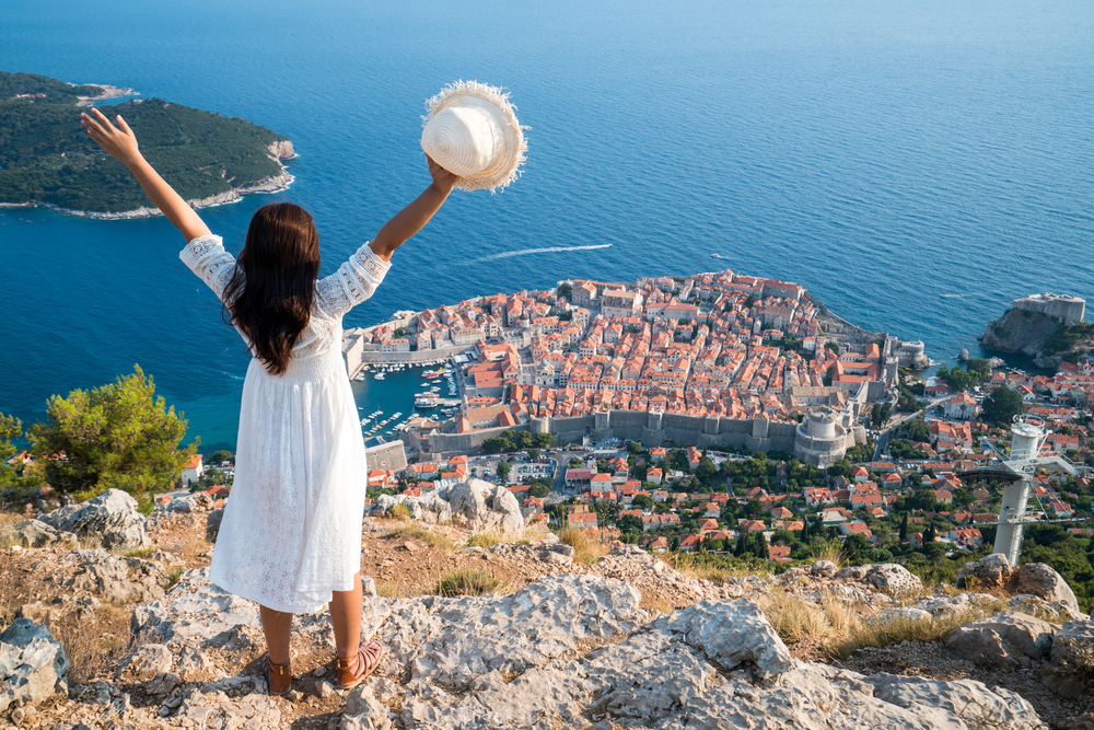
[[49,629],[16,618],[0,634],[0,712],[39,703],[65,685],[69,662]]

